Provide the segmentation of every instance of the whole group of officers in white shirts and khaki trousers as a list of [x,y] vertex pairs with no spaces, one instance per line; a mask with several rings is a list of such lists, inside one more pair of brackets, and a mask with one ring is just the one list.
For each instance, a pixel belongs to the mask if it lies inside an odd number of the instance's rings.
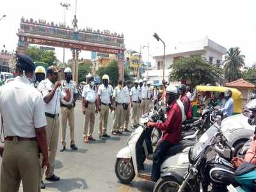
[[[4,146],[0,147],[3,157],[1,191],[19,191],[21,181],[24,191],[40,191],[45,188],[44,173],[46,180],[60,180],[54,174],[60,113],[60,151],[66,150],[67,122],[70,127],[70,148],[77,150],[74,138],[77,86],[72,81],[70,68],[64,70],[64,81],[58,80],[59,72],[55,66],[48,67],[46,71],[44,67],[35,68],[29,56],[18,54],[15,79],[0,88],[1,132],[4,134]],[[118,81],[118,86],[113,89],[108,75],[102,77],[100,86],[95,86],[92,76],[86,78],[88,84],[82,93],[84,143],[95,141],[92,137],[95,114],[100,114],[99,138],[105,140],[110,137],[107,134],[109,111],[115,111],[113,135],[129,132],[130,109],[134,124],[138,124],[139,116],[148,111],[152,95],[146,79],[136,80],[132,88],[129,81],[124,83],[124,87],[122,81]]]

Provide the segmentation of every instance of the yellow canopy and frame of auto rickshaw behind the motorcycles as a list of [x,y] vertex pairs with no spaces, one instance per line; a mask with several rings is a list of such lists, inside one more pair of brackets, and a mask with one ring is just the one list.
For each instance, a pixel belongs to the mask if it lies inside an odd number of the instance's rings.
[[231,90],[232,99],[234,100],[234,115],[242,113],[242,94],[236,88],[228,88],[225,86],[196,86],[196,97],[191,104],[193,106],[193,116],[198,116],[198,93],[200,92],[217,92],[224,93],[225,90]]

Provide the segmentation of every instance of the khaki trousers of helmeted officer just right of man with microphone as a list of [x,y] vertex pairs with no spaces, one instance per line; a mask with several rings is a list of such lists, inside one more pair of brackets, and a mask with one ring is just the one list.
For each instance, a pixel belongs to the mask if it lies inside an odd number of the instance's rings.
[[67,121],[70,129],[70,145],[75,144],[75,118],[74,108],[68,109],[65,107],[61,108],[61,126],[62,126],[62,138],[61,143],[63,146],[66,145],[66,130]]

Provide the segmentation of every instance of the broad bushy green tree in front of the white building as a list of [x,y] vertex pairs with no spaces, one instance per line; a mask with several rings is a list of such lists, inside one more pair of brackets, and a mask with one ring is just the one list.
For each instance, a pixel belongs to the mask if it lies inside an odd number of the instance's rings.
[[171,69],[170,80],[187,82],[191,87],[198,84],[215,84],[221,77],[221,68],[211,65],[200,56],[180,58],[171,65]]

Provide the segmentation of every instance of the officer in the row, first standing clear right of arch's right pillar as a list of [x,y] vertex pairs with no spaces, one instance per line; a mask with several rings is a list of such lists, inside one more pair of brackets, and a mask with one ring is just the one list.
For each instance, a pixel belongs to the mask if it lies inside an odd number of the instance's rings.
[[134,86],[131,88],[131,108],[132,108],[132,124],[137,125],[140,118],[140,101],[141,101],[141,90],[138,86],[138,80],[134,81]]

